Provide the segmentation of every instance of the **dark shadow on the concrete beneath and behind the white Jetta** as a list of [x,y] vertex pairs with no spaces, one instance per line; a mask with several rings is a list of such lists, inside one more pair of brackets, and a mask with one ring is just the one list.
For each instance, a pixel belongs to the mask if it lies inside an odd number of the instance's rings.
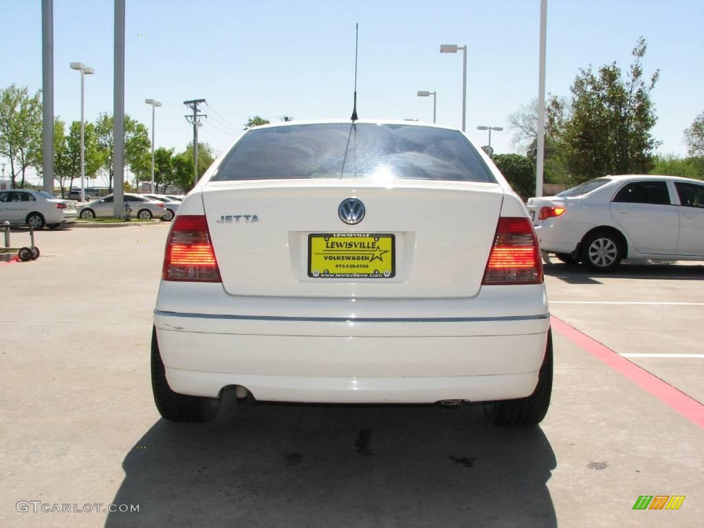
[[481,406],[235,405],[159,420],[125,457],[107,527],[554,527],[540,427]]

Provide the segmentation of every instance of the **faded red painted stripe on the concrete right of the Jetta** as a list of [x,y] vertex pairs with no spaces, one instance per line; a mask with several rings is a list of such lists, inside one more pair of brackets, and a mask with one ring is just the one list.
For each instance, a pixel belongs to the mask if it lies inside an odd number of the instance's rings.
[[584,348],[595,358],[602,360],[616,372],[624,375],[631,382],[640,386],[641,389],[649,392],[655,398],[665,403],[666,406],[676,410],[677,413],[684,416],[694,425],[698,425],[704,429],[704,405],[696,401],[694,398],[687,396],[683,392],[674,388],[674,386],[663,382],[659,377],[650,374],[647,370],[639,367],[635,363],[619,354],[612,351],[603,344],[591,339],[586,334],[582,334],[579,330],[567,325],[566,322],[559,320],[554,315],[551,317],[551,324],[556,332],[570,339],[580,348]]

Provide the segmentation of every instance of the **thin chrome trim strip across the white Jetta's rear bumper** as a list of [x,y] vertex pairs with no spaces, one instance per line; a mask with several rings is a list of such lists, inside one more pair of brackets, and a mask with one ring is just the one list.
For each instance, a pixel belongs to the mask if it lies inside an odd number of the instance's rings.
[[550,318],[549,313],[541,315],[509,315],[496,318],[314,318],[284,317],[282,315],[225,315],[215,313],[182,313],[154,310],[154,315],[172,318],[227,319],[240,321],[286,321],[286,322],[497,322],[534,321]]

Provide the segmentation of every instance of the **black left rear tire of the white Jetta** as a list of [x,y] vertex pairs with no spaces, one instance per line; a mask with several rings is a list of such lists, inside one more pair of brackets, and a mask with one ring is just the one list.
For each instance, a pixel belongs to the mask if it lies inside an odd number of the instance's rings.
[[170,422],[208,422],[220,409],[220,398],[187,396],[171,390],[156,339],[156,328],[151,330],[151,390],[161,417]]

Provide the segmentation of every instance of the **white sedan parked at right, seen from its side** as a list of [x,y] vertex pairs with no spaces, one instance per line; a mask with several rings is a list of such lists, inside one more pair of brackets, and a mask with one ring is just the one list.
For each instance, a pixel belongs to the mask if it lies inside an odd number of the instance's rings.
[[528,210],[542,251],[605,272],[622,259],[704,260],[704,182],[676,176],[606,176]]

